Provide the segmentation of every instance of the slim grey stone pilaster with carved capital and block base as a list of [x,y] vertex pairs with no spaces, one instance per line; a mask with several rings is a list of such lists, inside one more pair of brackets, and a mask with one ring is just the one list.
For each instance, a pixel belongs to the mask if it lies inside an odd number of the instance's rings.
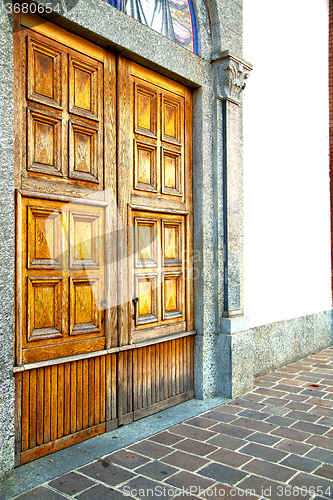
[[[216,93],[218,141],[217,238],[222,242],[220,260],[220,331],[216,337],[216,392],[235,397],[253,383],[253,345],[248,318],[244,316],[244,202],[241,144],[241,93],[252,66],[229,51],[212,57]],[[221,220],[222,219],[222,220]],[[251,362],[252,359],[252,362]]]

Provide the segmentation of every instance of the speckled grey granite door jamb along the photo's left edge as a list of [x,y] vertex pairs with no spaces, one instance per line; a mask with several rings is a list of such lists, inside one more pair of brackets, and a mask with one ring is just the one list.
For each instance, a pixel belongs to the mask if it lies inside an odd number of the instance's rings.
[[[14,466],[13,23],[0,4],[0,482]],[[0,487],[1,490],[1,487]]]

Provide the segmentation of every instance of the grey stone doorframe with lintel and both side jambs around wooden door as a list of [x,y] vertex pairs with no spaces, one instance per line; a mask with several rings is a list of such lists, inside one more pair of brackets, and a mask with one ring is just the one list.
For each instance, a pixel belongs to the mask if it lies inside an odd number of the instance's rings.
[[[242,0],[197,0],[199,56],[101,0],[79,0],[52,22],[194,89],[195,394],[235,396],[244,373]],[[12,22],[0,5],[0,480],[14,464],[14,77]],[[172,54],[172,56],[170,56]]]

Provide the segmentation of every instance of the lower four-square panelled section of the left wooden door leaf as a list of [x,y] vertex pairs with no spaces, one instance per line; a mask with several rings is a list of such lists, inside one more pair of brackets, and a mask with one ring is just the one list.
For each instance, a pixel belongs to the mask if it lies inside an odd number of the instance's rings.
[[105,207],[29,197],[21,206],[24,362],[103,349]]

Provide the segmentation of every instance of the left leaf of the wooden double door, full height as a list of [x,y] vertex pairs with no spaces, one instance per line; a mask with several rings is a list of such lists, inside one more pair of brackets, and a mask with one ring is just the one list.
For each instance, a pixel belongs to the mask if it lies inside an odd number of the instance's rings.
[[35,16],[15,23],[16,460],[25,463],[117,426],[106,262],[117,251],[108,242],[116,59]]

